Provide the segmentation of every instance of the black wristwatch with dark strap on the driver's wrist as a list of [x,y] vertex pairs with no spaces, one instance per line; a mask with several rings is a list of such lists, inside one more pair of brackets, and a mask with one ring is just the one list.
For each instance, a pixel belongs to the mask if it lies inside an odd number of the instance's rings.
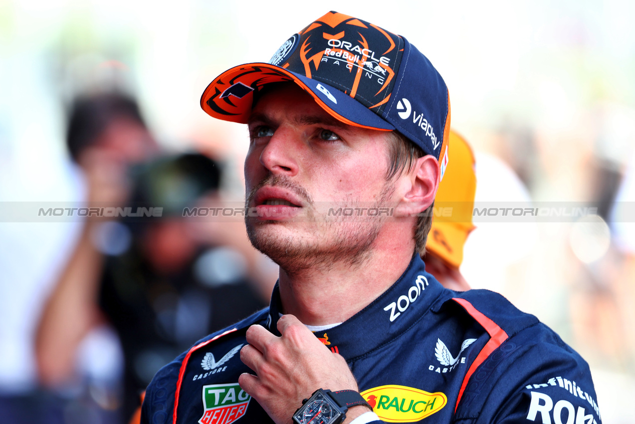
[[293,414],[296,424],[339,424],[346,418],[349,407],[366,405],[373,408],[355,390],[331,392],[318,388]]

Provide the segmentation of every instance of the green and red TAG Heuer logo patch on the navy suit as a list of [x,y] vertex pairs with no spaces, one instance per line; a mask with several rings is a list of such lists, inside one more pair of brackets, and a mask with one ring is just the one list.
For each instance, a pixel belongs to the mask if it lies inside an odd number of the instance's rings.
[[251,396],[238,383],[203,386],[203,416],[200,424],[231,424],[246,411]]

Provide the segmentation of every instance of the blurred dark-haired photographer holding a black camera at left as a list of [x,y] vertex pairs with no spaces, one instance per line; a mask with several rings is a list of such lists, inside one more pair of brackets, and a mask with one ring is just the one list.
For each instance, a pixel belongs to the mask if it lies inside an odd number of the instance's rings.
[[117,423],[176,352],[264,306],[258,279],[270,281],[273,267],[241,222],[182,216],[185,206],[220,198],[220,166],[201,154],[157,156],[131,98],[76,100],[67,147],[91,206],[160,210],[87,218],[37,331],[43,385],[96,404],[102,422]]

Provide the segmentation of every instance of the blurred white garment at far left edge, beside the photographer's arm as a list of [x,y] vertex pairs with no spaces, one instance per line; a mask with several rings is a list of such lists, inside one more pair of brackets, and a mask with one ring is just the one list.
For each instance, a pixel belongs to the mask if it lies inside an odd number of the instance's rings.
[[[34,148],[29,143],[23,146]],[[20,145],[15,148],[22,149]],[[2,150],[0,199],[5,212],[18,214],[17,221],[25,218],[27,209],[21,206],[27,202],[38,206],[34,202],[83,199],[81,173],[63,157],[48,156],[46,164],[35,169],[32,155],[5,155]],[[30,178],[19,178],[21,175]],[[27,221],[32,219],[27,217]],[[1,396],[23,395],[37,387],[37,320],[80,232],[79,222],[0,223]]]

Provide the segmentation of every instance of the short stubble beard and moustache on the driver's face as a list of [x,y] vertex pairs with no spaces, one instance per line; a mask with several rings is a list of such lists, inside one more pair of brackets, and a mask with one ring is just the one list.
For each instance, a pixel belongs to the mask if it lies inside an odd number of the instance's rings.
[[[288,230],[276,228],[278,225],[290,227],[288,222],[274,220],[258,222],[248,216],[245,217],[247,235],[253,247],[269,256],[287,274],[298,274],[309,269],[326,272],[336,265],[354,268],[370,259],[373,242],[384,225],[385,217],[324,216],[326,211],[321,214],[316,213],[313,207],[314,202],[306,190],[288,179],[271,175],[251,190],[246,199],[246,205],[251,204],[251,198],[255,192],[264,185],[277,185],[292,190],[307,204],[307,213],[301,220],[291,224],[312,232],[312,235],[308,235],[307,238],[304,238],[302,234],[288,234]],[[394,187],[386,183],[375,206],[371,207],[378,208],[385,204],[393,192]],[[354,202],[349,199],[338,204],[335,209],[354,206]]]

